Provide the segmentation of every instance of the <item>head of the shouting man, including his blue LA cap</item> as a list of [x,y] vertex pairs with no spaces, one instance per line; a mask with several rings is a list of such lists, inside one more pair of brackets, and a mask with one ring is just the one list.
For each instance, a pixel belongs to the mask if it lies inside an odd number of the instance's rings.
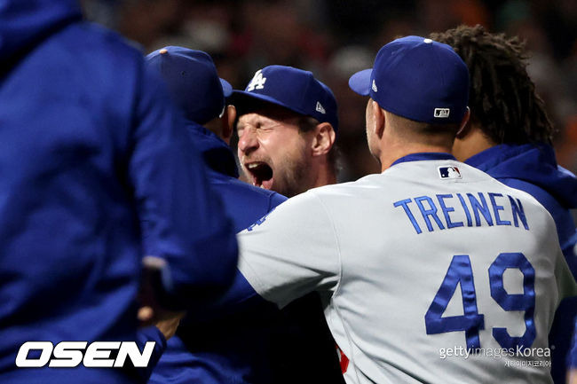
[[232,102],[250,183],[287,197],[336,183],[336,99],[311,72],[265,67]]

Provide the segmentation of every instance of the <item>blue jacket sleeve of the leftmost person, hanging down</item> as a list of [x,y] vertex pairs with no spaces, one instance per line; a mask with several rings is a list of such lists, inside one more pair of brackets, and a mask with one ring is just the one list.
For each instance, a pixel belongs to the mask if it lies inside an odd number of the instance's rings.
[[129,176],[145,255],[166,262],[160,296],[172,310],[213,300],[232,282],[237,244],[204,166],[161,80],[144,66]]

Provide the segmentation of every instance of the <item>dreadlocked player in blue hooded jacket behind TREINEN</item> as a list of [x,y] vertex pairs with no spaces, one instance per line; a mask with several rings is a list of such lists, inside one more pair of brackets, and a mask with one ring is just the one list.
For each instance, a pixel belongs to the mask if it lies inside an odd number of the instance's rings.
[[[481,26],[461,26],[431,38],[451,45],[469,67],[471,118],[454,141],[455,157],[531,194],[547,208],[565,260],[577,277],[577,231],[570,212],[577,208],[577,178],[557,166],[551,146],[554,128],[526,72],[522,43]],[[562,302],[549,335],[556,383],[565,382],[571,347],[567,329],[575,316],[577,298]]]

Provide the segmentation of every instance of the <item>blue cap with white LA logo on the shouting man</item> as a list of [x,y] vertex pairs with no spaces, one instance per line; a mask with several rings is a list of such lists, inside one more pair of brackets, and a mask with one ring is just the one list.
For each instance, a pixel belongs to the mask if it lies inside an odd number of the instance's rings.
[[233,90],[233,100],[243,106],[251,101],[265,101],[319,122],[329,122],[335,131],[338,129],[335,95],[312,72],[302,69],[285,66],[259,69],[245,90]]

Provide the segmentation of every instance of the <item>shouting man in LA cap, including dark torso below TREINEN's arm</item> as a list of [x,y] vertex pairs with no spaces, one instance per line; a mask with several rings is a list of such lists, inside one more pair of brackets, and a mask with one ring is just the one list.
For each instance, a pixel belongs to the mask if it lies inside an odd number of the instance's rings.
[[[336,183],[336,99],[311,72],[264,67],[245,90],[233,91],[232,101],[238,156],[250,183],[288,197]],[[272,333],[273,378],[265,382],[343,381],[318,294],[284,308]],[[310,373],[303,378],[295,366]]]

